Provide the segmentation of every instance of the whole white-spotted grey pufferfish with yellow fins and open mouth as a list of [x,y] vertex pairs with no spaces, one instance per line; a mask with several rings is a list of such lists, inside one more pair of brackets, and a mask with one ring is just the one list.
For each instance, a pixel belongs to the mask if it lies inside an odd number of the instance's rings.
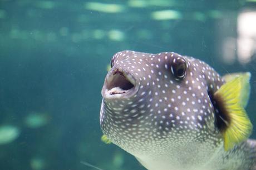
[[249,79],[173,52],[118,52],[102,88],[102,140],[149,170],[256,169]]

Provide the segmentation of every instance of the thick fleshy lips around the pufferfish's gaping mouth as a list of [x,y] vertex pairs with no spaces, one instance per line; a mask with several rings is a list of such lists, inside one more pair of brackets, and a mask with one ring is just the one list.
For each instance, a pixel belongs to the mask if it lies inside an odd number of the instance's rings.
[[[113,84],[122,84],[128,89],[121,89]],[[125,84],[125,85],[124,85]],[[101,94],[105,99],[130,98],[139,90],[134,76],[124,68],[112,68],[105,78]]]

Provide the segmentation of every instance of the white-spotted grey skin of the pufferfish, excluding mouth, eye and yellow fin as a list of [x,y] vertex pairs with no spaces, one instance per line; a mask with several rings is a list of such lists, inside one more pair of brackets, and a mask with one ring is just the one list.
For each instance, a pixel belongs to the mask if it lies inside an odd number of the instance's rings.
[[[173,73],[184,59],[183,79]],[[134,155],[149,170],[256,169],[255,142],[224,151],[215,125],[218,112],[209,97],[224,79],[208,64],[177,53],[118,52],[102,88],[100,124],[112,143]],[[116,70],[135,80],[130,96],[107,96]],[[124,95],[124,97],[122,97]]]

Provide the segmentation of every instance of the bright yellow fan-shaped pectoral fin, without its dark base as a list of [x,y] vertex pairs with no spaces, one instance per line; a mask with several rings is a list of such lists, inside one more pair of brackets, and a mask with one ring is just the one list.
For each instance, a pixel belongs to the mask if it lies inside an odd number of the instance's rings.
[[247,139],[252,132],[252,123],[240,102],[243,96],[244,79],[246,78],[243,75],[238,75],[223,84],[214,94],[216,98],[221,98],[225,114],[228,114],[225,116],[229,118],[228,121],[224,121],[227,128],[221,131],[225,151]]

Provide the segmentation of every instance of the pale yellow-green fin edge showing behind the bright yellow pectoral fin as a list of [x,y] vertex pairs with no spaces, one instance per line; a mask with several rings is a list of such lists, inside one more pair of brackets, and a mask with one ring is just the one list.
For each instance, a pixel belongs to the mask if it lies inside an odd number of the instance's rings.
[[232,73],[226,74],[223,76],[226,82],[232,81],[236,77],[242,77],[242,88],[241,88],[241,97],[240,103],[243,107],[246,107],[250,97],[250,76],[249,72],[245,73]]

